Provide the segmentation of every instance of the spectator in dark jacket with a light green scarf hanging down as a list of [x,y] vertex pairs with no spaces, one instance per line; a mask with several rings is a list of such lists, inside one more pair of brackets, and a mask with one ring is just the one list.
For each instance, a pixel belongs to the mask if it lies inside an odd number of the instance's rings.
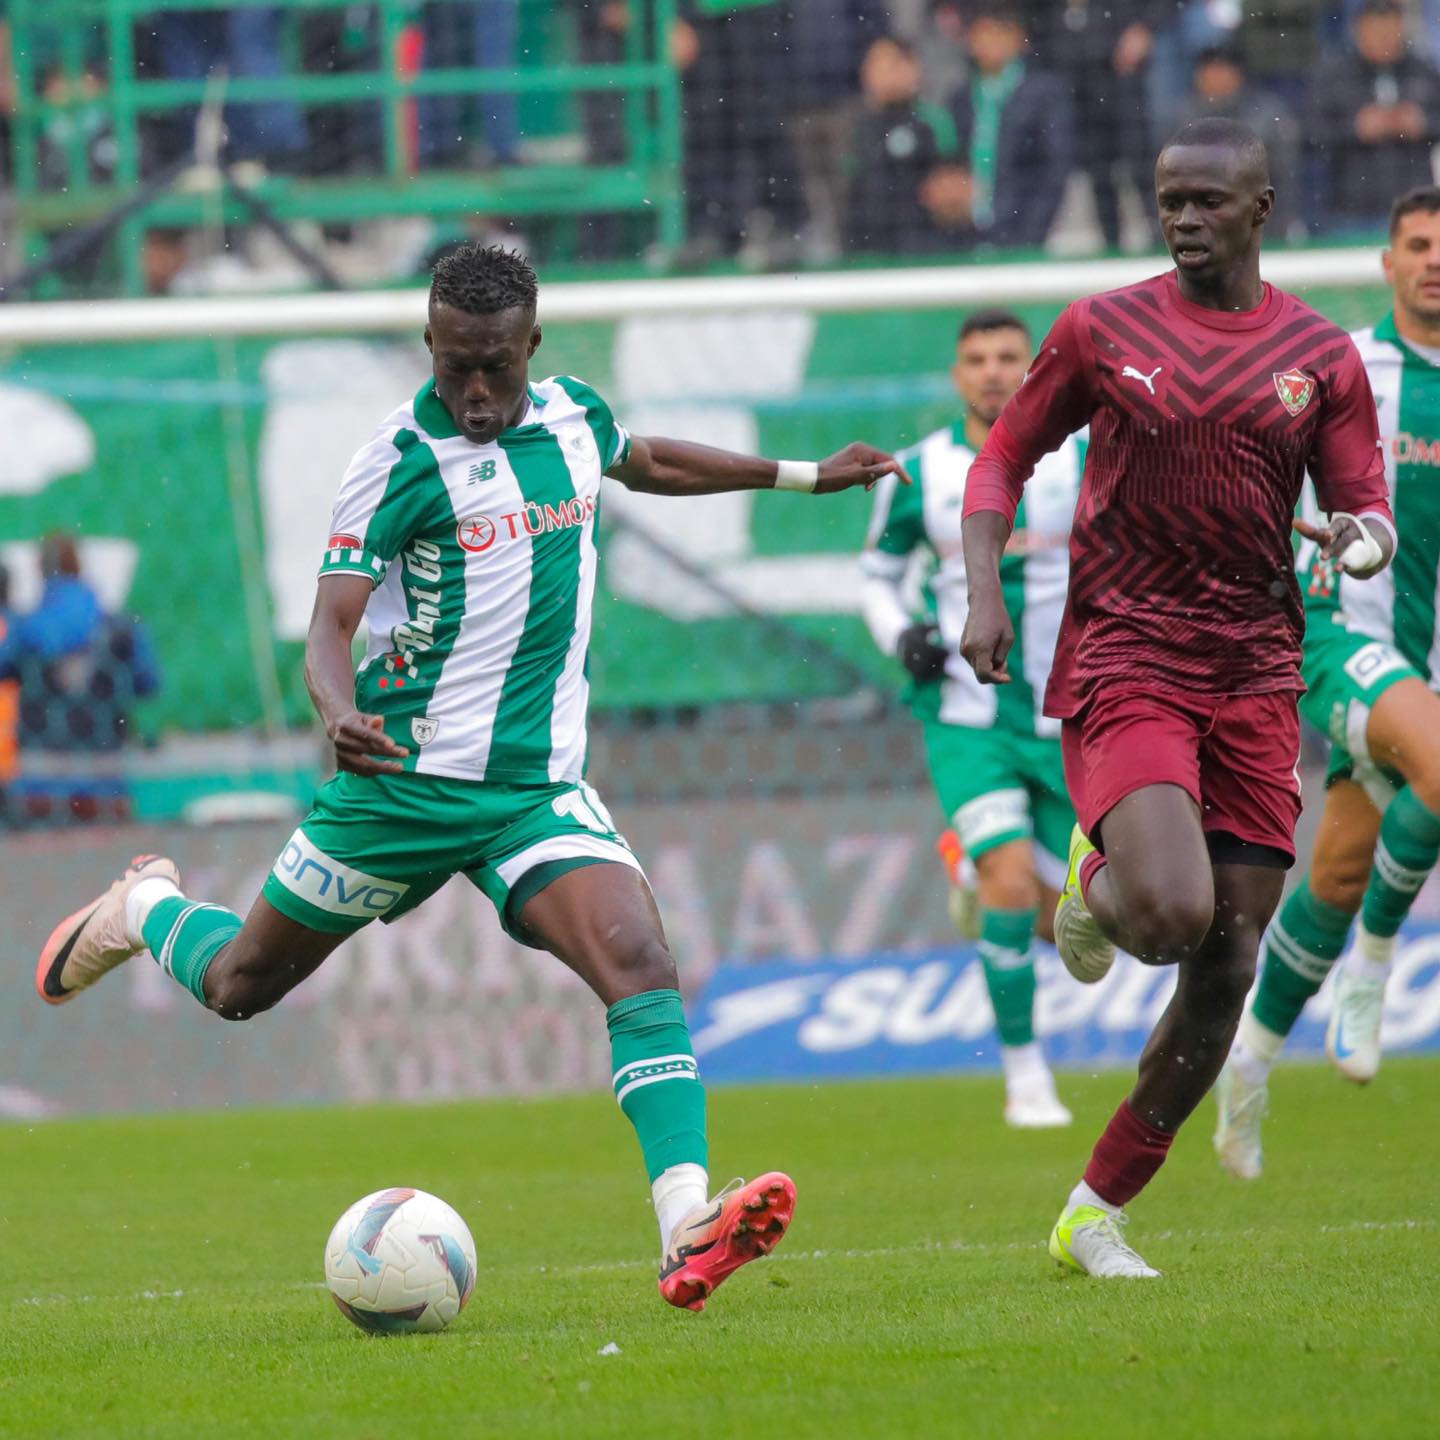
[[1070,96],[1027,55],[1014,7],[979,4],[971,14],[971,75],[950,102],[956,158],[971,181],[969,219],[978,239],[1040,246],[1074,157]]

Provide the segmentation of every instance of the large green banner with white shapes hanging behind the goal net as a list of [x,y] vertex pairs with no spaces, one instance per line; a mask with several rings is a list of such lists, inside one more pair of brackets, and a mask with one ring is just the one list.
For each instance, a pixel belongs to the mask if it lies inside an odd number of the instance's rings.
[[[1310,297],[1355,325],[1382,291]],[[996,297],[1002,301],[1004,297]],[[1018,307],[1043,331],[1057,307]],[[639,433],[818,458],[900,448],[956,415],[958,317],[736,312],[546,328],[539,374],[592,383]],[[36,541],[82,539],[104,605],[151,629],[144,726],[310,721],[301,645],[350,455],[426,374],[415,340],[29,347],[0,357],[0,560],[39,593]],[[636,497],[609,484],[593,701],[677,707],[890,685],[858,615],[868,497]]]

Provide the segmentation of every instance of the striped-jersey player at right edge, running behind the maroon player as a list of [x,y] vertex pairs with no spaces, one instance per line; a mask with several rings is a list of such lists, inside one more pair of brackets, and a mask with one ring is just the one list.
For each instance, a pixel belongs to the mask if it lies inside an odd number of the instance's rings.
[[1384,266],[1394,308],[1354,338],[1375,392],[1404,544],[1369,585],[1336,573],[1313,543],[1300,549],[1309,687],[1300,708],[1332,749],[1309,874],[1266,932],[1260,986],[1215,1087],[1215,1149],[1241,1179],[1263,1165],[1270,1066],[1356,913],[1325,1048],[1348,1079],[1375,1077],[1395,935],[1440,857],[1440,189],[1395,200]]

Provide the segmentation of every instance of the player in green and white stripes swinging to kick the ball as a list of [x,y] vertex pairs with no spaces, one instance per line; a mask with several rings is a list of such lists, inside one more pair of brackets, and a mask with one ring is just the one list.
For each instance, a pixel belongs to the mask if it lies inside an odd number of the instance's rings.
[[[36,985],[63,1004],[148,949],[226,1020],[276,1004],[348,935],[452,876],[608,1007],[615,1097],[661,1230],[661,1295],[698,1310],[783,1237],[779,1172],[707,1200],[706,1100],[675,965],[639,861],[585,783],[586,651],[600,480],[706,495],[870,487],[899,464],[850,445],[818,464],[629,435],[567,376],[530,382],[530,266],[467,245],[441,261],[433,377],[356,455],[321,557],[305,678],[340,773],[285,844],[249,916],[196,903],[140,857],[62,920]],[[356,672],[351,641],[369,624]]]

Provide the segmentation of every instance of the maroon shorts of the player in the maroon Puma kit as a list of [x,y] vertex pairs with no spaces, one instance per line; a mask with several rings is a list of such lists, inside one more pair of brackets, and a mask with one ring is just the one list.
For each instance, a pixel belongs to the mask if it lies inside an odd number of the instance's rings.
[[1263,696],[1102,691],[1061,730],[1066,785],[1086,835],[1146,785],[1178,785],[1201,825],[1295,858],[1300,716],[1292,690]]

